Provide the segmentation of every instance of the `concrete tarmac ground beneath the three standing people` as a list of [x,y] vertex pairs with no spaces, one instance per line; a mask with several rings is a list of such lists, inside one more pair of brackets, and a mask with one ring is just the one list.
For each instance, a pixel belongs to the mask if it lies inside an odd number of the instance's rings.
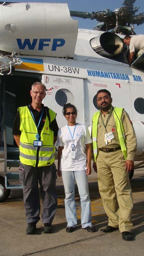
[[[13,172],[13,170],[10,171]],[[3,164],[0,164],[0,175],[3,175]],[[36,225],[35,235],[26,235],[27,224],[22,189],[11,190],[9,198],[4,203],[0,203],[0,256],[142,255],[144,252],[144,168],[136,170],[131,180],[134,204],[132,241],[124,241],[119,230],[108,234],[100,231],[100,228],[107,226],[108,217],[102,206],[97,174],[92,171],[88,179],[95,233],[89,233],[81,228],[81,207],[77,186],[75,193],[78,224],[73,233],[66,232],[65,194],[62,179],[58,178],[58,208],[52,223],[52,234],[43,233],[43,223],[40,220]]]

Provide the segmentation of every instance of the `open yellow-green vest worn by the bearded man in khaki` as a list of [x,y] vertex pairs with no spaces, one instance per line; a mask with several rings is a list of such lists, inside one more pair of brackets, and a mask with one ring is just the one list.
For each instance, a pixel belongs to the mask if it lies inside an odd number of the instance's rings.
[[[121,146],[121,150],[124,154],[125,159],[127,158],[127,148],[126,148],[126,140],[125,140],[125,133],[124,133],[124,126],[121,121],[122,114],[123,114],[123,108],[114,108],[113,110],[115,122],[116,122],[116,129],[118,133],[118,138]],[[94,160],[96,162],[97,156],[98,156],[98,150],[97,150],[97,130],[98,130],[98,120],[100,116],[100,111],[94,113],[92,116],[92,143],[93,143],[93,154],[94,154]]]

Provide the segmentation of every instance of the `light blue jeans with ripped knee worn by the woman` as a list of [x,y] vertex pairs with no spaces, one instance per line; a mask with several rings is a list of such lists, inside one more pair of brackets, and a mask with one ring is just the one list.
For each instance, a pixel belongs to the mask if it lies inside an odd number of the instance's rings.
[[68,226],[76,227],[75,179],[81,200],[82,228],[92,226],[91,201],[89,196],[88,178],[86,171],[61,171],[65,188],[65,211]]

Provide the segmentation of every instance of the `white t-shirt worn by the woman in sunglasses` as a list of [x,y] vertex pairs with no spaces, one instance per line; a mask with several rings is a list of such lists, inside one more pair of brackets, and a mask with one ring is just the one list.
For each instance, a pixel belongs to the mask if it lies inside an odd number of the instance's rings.
[[74,133],[74,151],[76,152],[75,158],[71,158],[71,144],[72,137],[69,132],[69,129],[73,136],[75,125],[74,126],[63,126],[58,131],[57,136],[57,146],[64,147],[62,150],[60,158],[60,170],[62,171],[80,171],[86,170],[87,157],[85,144],[92,143],[92,139],[89,133],[88,128],[83,124],[77,124],[75,133]]

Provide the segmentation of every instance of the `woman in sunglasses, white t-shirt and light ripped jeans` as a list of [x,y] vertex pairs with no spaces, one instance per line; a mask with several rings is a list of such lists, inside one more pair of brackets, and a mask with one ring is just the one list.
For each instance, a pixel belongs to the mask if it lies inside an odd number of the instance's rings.
[[75,179],[81,200],[81,224],[88,232],[95,232],[92,226],[91,202],[88,178],[91,174],[91,143],[88,128],[76,123],[77,109],[68,103],[63,107],[68,124],[58,131],[58,176],[62,176],[65,188],[65,211],[68,222],[66,232],[73,232],[77,225],[75,203]]

